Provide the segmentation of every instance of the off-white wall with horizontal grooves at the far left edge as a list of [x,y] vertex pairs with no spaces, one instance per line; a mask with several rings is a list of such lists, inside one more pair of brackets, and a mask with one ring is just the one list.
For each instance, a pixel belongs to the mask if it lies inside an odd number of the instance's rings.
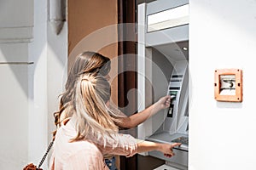
[[0,169],[20,169],[28,160],[29,60],[33,1],[0,3]]

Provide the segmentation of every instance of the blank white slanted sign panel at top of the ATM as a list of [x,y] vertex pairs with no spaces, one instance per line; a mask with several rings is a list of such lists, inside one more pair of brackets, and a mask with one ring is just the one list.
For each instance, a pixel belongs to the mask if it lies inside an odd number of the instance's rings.
[[189,24],[189,4],[148,15],[148,32]]

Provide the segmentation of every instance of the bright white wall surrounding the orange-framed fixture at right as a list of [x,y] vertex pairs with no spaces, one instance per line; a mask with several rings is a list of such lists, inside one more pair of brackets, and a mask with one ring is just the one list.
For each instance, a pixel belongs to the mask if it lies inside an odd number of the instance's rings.
[[[189,2],[189,170],[255,169],[256,1]],[[214,99],[214,70],[243,71],[243,102]]]

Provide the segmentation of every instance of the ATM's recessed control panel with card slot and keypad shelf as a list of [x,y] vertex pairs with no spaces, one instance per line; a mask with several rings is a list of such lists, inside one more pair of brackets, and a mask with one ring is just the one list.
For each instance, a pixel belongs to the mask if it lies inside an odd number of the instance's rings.
[[189,94],[188,94],[188,62],[178,61],[174,65],[170,78],[167,94],[172,96],[170,108],[166,110],[166,119],[163,126],[146,140],[159,143],[180,142],[182,145],[175,148],[176,156],[167,158],[159,151],[148,152],[149,156],[154,156],[165,161],[183,166],[188,165],[189,151]]

